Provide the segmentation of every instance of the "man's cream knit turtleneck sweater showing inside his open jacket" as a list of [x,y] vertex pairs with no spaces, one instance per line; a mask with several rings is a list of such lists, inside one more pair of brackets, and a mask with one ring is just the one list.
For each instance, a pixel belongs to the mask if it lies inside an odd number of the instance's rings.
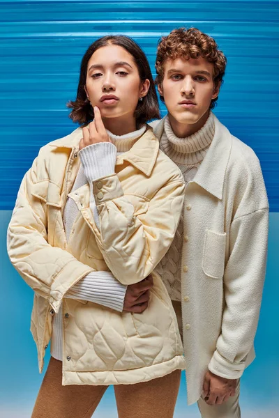
[[[214,132],[215,127],[212,113],[209,114],[209,118],[200,130],[186,138],[176,137],[169,123],[168,116],[165,118],[164,132],[160,140],[160,149],[179,167],[186,185],[195,177],[206,155],[206,151],[209,149]],[[181,302],[181,254],[183,239],[187,240],[188,238],[187,235],[183,238],[182,211],[172,245],[156,267],[156,271],[162,277],[163,283],[167,288],[169,297],[173,301],[179,302]]]

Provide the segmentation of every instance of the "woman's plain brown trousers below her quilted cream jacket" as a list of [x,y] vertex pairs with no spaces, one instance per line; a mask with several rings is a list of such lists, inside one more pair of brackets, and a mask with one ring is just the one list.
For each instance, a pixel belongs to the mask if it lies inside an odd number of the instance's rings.
[[[135,385],[115,385],[119,418],[172,418],[181,371]],[[62,386],[62,362],[50,358],[31,418],[91,418],[107,386]]]

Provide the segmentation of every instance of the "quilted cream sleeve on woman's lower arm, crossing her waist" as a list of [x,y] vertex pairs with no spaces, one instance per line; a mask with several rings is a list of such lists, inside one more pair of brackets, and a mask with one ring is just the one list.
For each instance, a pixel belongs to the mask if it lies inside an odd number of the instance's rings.
[[8,256],[24,281],[59,311],[63,295],[82,277],[94,271],[68,251],[47,242],[47,208],[31,194],[37,181],[38,157],[25,174],[7,233]]

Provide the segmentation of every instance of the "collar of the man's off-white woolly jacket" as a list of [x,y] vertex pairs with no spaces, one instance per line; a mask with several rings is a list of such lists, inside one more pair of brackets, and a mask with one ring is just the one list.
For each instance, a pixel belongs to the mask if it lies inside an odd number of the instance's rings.
[[[232,135],[227,130],[227,127],[220,123],[215,115],[213,116],[215,134],[204,160],[192,181],[221,200],[223,197],[225,173],[232,149]],[[165,118],[153,130],[159,140],[164,131],[164,121]]]

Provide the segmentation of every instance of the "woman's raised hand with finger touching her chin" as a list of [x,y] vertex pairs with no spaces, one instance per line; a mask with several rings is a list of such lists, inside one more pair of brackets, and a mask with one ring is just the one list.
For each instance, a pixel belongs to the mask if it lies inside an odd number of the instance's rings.
[[83,137],[80,140],[80,150],[86,146],[98,144],[98,142],[111,142],[100,116],[100,110],[97,106],[94,107],[93,122],[89,123],[89,126],[82,128],[82,134]]

